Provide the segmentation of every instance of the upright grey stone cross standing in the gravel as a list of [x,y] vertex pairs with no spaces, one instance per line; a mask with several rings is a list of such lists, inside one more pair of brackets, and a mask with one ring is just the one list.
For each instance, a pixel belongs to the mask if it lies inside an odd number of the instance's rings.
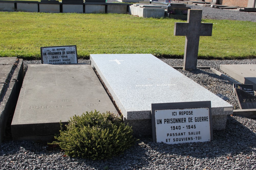
[[194,70],[197,65],[200,36],[211,36],[212,23],[201,23],[202,10],[189,9],[187,22],[175,22],[174,35],[186,36],[183,70]]

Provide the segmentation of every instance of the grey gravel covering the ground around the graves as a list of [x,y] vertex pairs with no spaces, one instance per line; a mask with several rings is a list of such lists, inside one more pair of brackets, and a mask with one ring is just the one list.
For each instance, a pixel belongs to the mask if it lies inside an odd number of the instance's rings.
[[[161,1],[161,0],[159,0]],[[108,0],[108,2],[118,2]],[[209,7],[203,9],[203,18],[233,19],[256,22],[255,16],[239,11],[226,11]],[[235,17],[235,18],[234,18]],[[182,66],[182,59],[161,59],[170,66]],[[88,63],[89,60],[79,60]],[[40,64],[40,61],[24,61]],[[198,66],[210,66],[219,70],[220,64],[256,64],[256,59],[246,60],[198,60]],[[233,96],[232,83],[214,74],[209,69],[197,69],[181,73],[213,93],[221,93],[228,102],[239,109]],[[219,70],[220,71],[220,70]],[[124,154],[110,160],[92,161],[70,158],[59,148],[40,141],[12,141],[6,137],[0,145],[0,169],[256,169],[256,120],[240,116],[228,116],[225,130],[213,132],[210,142],[167,145],[153,143],[150,138],[141,138]],[[142,143],[143,142],[143,143]]]

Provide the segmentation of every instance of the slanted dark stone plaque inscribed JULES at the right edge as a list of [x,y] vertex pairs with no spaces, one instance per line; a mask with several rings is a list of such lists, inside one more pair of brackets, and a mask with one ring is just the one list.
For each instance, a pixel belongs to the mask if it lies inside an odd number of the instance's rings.
[[240,109],[256,109],[256,97],[250,93],[234,88]]

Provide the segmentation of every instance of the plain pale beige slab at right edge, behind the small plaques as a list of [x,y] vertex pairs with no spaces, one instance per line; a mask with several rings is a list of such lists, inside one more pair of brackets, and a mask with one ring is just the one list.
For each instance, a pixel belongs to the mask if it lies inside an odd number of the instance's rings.
[[220,69],[243,84],[252,84],[256,90],[256,64],[220,64]]

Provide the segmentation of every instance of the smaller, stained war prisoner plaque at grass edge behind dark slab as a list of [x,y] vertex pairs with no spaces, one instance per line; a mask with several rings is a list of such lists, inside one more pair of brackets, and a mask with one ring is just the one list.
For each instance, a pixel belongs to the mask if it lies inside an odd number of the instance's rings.
[[77,64],[77,46],[41,47],[42,64]]

